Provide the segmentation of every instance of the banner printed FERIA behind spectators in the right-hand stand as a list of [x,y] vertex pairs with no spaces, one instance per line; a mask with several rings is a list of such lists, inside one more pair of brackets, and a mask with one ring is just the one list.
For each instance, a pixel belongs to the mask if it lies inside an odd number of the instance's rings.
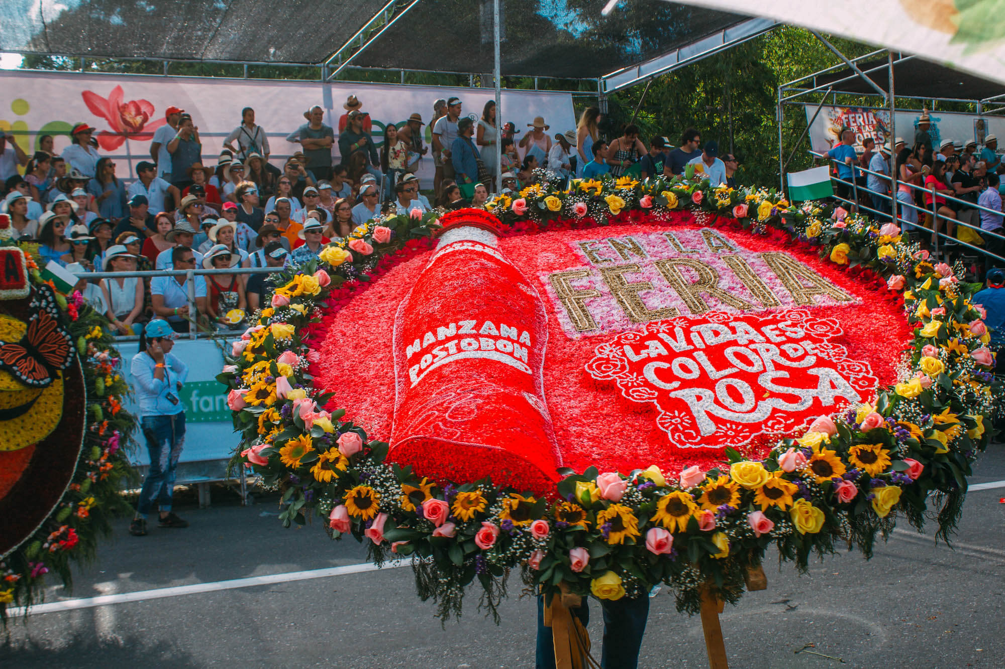
[[[804,105],[806,122],[813,119],[816,104]],[[893,133],[902,138],[910,149],[915,143],[915,131],[921,112],[897,110]],[[936,151],[944,140],[953,140],[958,144],[966,144],[973,140],[979,145],[984,144],[988,135],[1005,138],[1005,118],[978,117],[973,114],[957,114],[955,112],[929,112],[931,127],[929,136]],[[842,128],[850,128],[855,133],[855,149],[862,150],[862,140],[871,137],[876,144],[882,144],[889,136],[889,110],[874,109],[862,106],[829,106],[820,108],[813,124],[810,126],[810,146],[813,151],[823,153],[829,151],[840,142],[838,133]]]

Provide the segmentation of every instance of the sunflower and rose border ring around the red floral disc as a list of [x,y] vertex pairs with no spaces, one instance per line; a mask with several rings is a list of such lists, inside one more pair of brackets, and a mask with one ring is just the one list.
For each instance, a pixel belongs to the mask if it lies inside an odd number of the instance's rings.
[[327,410],[331,394],[313,385],[322,314],[432,246],[435,214],[377,219],[281,275],[218,377],[242,433],[236,461],[281,490],[285,524],[317,515],[332,536],[366,541],[377,563],[410,555],[420,597],[437,601],[444,618],[459,615],[475,580],[494,615],[515,569],[547,594],[564,584],[618,599],[665,584],[678,609],[693,613],[702,589],[738,601],[772,542],[800,570],[838,541],[868,556],[897,512],[921,528],[930,503],[948,540],[971,463],[990,437],[994,383],[984,312],[971,301],[979,286],[959,280],[958,269],[934,262],[894,225],[797,207],[772,190],[713,187],[692,173],[532,186],[485,208],[507,235],[671,224],[681,209],[706,225],[781,232],[902,304],[914,338],[898,380],[878,388],[873,403],[778,440],[760,460],[727,449],[728,461],[707,470],[567,470],[544,495],[488,479],[433,481],[387,461],[388,445],[341,421],[344,411]]

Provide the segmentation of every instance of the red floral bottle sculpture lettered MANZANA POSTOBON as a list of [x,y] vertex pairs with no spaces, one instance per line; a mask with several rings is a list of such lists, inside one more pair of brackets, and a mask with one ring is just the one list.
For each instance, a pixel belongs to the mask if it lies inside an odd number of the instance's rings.
[[440,222],[395,317],[391,458],[431,478],[545,490],[561,456],[542,381],[541,296],[496,249],[494,218],[462,209]]

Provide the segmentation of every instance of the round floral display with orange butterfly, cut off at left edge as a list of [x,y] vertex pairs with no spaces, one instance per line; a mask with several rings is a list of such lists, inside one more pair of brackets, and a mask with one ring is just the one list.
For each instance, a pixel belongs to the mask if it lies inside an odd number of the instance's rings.
[[[0,220],[0,239],[4,238],[4,222]],[[0,243],[0,252],[12,246],[7,239]],[[10,448],[0,449],[0,504],[9,514],[5,531],[11,532],[3,537],[6,550],[0,554],[0,619],[4,622],[9,607],[30,607],[41,600],[46,575],[58,575],[69,586],[72,563],[92,560],[97,540],[111,533],[112,518],[129,509],[121,493],[124,480],[132,476],[127,447],[135,425],[134,417],[123,408],[129,386],[106,329],[107,318],[87,305],[80,292],[60,292],[51,278],[43,276],[37,246],[22,244],[20,249],[30,294],[58,314],[56,331],[58,337],[68,337],[72,364],[50,386],[58,391],[51,396],[54,401],[45,389],[29,402],[29,411],[20,415],[8,413],[8,400],[4,400],[0,443]],[[8,274],[5,280],[9,278]],[[0,339],[9,341],[10,324],[27,320],[28,313],[11,301],[0,302],[0,307],[16,316],[5,315],[0,323],[4,325]],[[50,337],[53,331],[47,330]],[[53,351],[48,349],[49,360]],[[44,353],[36,350],[32,355],[37,358]],[[5,360],[9,362],[8,356]],[[8,387],[11,377],[2,376],[0,381],[2,390],[12,390]],[[25,397],[16,391],[3,394]],[[24,432],[32,432],[32,439],[22,439],[27,446],[13,450],[22,445],[14,442]],[[37,443],[36,438],[40,439]]]

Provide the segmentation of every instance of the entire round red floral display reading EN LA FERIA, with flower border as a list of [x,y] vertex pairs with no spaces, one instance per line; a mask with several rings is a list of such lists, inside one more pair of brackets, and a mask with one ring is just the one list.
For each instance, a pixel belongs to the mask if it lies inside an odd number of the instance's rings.
[[669,586],[736,602],[765,549],[948,538],[991,435],[979,286],[892,224],[768,190],[531,186],[377,219],[234,344],[237,461],[419,595],[490,611]]

